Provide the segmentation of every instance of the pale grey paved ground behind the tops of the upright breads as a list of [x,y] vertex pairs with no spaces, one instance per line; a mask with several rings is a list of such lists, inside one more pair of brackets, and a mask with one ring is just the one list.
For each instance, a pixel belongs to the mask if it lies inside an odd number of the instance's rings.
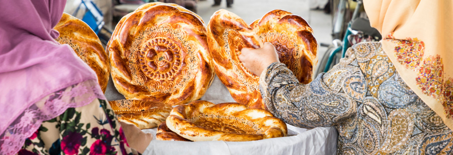
[[[197,14],[207,23],[219,9],[226,9],[240,16],[247,23],[252,23],[255,19],[261,18],[270,10],[280,9],[289,11],[295,15],[302,16],[313,29],[313,34],[318,44],[330,44],[332,37],[331,16],[324,14],[322,10],[309,10],[309,0],[235,0],[231,8],[226,8],[226,0],[222,0],[222,5],[211,7],[214,0],[202,0],[198,3]],[[327,48],[318,48],[318,59],[323,56]]]

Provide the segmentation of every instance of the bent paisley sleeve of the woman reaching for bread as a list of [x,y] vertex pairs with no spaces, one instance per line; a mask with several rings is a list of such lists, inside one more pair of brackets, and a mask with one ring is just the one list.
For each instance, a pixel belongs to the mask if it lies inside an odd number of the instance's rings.
[[354,98],[359,94],[355,92],[366,90],[363,78],[350,48],[332,70],[306,85],[285,64],[272,63],[261,73],[260,92],[269,110],[286,123],[309,129],[326,127],[355,115]]

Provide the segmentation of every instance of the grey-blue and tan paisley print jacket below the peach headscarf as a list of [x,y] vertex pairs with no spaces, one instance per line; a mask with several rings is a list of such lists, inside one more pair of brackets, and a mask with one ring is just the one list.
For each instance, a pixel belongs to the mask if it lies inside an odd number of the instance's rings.
[[260,91],[269,110],[293,126],[335,126],[339,155],[453,154],[453,132],[402,81],[381,43],[349,48],[306,85],[272,63]]

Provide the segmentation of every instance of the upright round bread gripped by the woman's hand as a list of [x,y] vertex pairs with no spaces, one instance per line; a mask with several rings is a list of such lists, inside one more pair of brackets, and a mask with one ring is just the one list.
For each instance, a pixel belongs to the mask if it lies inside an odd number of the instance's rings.
[[239,16],[218,10],[207,26],[209,49],[217,77],[228,88],[236,102],[250,108],[264,108],[259,77],[242,65],[238,56],[242,48],[260,48],[258,35]]

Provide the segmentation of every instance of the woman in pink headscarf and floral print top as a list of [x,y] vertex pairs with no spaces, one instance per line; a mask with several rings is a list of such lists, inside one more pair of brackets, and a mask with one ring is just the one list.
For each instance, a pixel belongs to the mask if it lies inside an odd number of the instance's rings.
[[66,0],[0,4],[0,155],[144,151],[150,135],[123,131],[96,74],[54,40]]

